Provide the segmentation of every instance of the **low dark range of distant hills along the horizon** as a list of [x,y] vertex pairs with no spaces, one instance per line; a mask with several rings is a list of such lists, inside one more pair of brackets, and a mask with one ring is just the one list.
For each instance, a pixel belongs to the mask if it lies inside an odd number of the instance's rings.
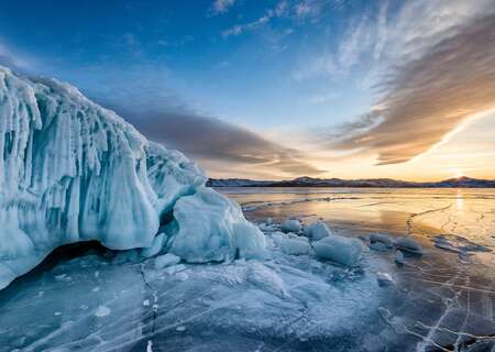
[[391,178],[312,178],[308,176],[286,180],[253,180],[245,178],[210,178],[209,187],[374,187],[374,188],[495,188],[495,180],[471,177],[449,178],[433,183],[413,183]]

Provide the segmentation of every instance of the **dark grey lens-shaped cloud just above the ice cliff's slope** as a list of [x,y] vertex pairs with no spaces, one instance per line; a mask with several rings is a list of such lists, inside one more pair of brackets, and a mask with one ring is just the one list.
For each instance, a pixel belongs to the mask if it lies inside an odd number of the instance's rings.
[[226,167],[229,174],[239,170],[239,175],[249,172],[256,176],[322,173],[305,162],[300,151],[219,119],[194,112],[118,112],[151,140],[204,162],[213,174],[221,174]]

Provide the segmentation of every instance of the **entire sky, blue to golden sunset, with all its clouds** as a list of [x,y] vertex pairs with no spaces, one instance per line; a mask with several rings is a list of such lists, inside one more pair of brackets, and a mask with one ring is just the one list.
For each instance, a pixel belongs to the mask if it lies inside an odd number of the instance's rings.
[[2,1],[0,65],[211,177],[495,178],[495,1]]

